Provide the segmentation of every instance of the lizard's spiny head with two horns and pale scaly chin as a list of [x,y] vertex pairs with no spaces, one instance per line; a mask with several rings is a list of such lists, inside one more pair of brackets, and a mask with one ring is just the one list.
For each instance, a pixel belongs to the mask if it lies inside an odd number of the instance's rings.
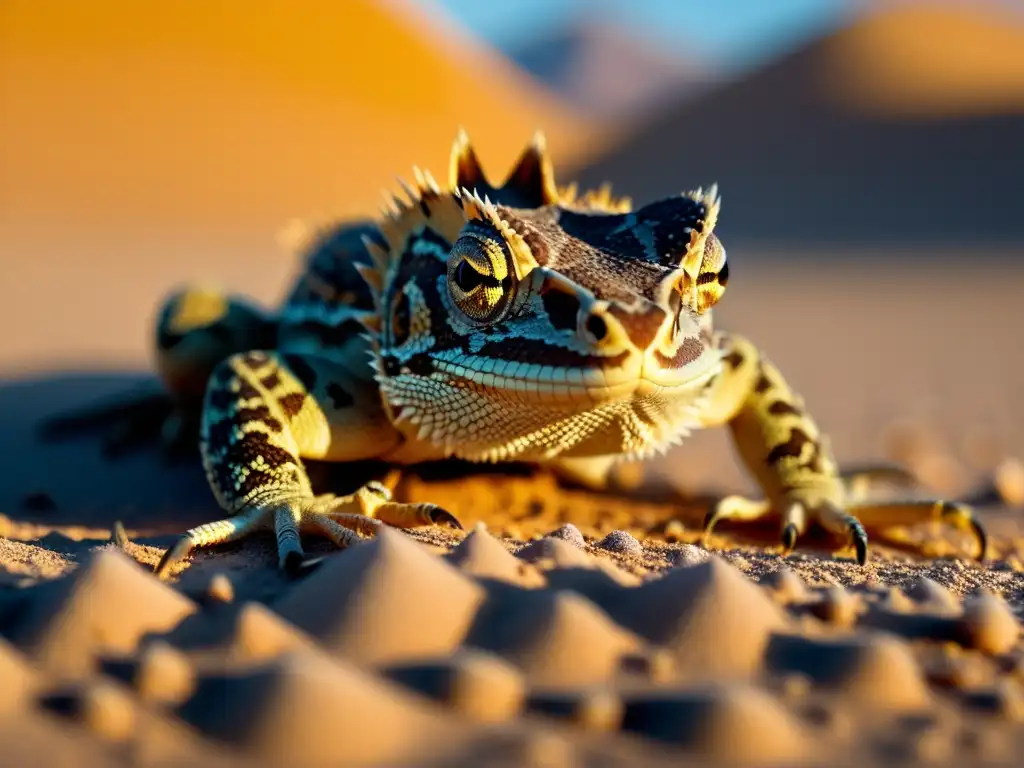
[[407,436],[472,460],[664,450],[721,361],[702,323],[728,274],[717,194],[632,211],[607,189],[559,189],[534,155],[497,189],[453,158],[430,215],[404,214],[413,236],[385,229],[384,400]]

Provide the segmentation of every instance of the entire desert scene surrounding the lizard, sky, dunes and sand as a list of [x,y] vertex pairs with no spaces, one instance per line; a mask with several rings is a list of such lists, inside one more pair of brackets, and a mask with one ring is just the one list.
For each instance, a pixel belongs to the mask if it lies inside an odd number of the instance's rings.
[[[0,732],[17,764],[1012,763],[1024,10],[759,5],[0,3],[0,668],[20,681]],[[727,37],[730,13],[761,37]],[[719,430],[653,463],[643,503],[413,479],[402,493],[495,534],[417,534],[425,559],[400,534],[319,548],[299,585],[269,540],[200,553],[173,586],[135,567],[218,516],[198,462],[108,460],[89,437],[44,443],[39,421],[152,378],[154,313],[182,283],[280,301],[295,221],[373,215],[414,165],[442,176],[460,127],[495,178],[542,128],[561,183],[643,203],[718,182],[717,324],[767,351],[842,463],[899,461],[973,501],[992,561],[947,537],[928,557],[880,543],[864,572],[827,542],[781,562],[738,530],[708,559],[701,505],[755,490]],[[117,520],[127,552],[106,545]],[[765,639],[783,626],[842,663],[801,667],[814,654]],[[307,706],[338,716],[285,714]]]

